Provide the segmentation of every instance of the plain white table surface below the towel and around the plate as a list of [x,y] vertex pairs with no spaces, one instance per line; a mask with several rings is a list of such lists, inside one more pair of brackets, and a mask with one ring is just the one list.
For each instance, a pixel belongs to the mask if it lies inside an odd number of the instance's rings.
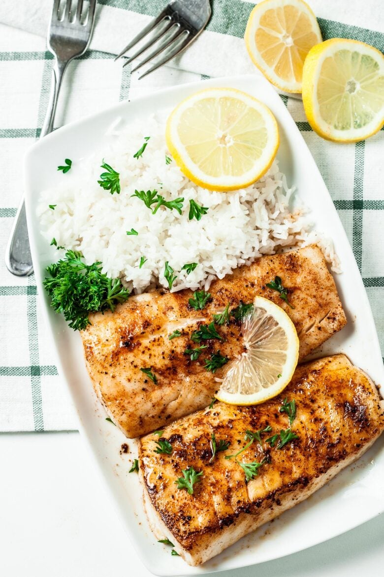
[[[0,575],[151,575],[109,507],[78,433],[2,433],[0,463]],[[383,544],[381,515],[300,553],[216,575],[378,576]]]

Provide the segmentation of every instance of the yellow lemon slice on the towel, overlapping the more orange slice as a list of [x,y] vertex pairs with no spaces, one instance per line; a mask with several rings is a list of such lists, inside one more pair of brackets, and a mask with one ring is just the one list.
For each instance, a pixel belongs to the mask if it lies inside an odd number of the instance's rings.
[[372,136],[384,123],[384,56],[357,40],[318,44],[305,61],[303,104],[323,138],[356,142]]

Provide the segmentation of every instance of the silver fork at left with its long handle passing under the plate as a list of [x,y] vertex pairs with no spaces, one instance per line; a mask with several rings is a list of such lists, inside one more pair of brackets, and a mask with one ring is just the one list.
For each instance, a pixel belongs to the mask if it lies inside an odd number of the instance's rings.
[[[54,55],[50,101],[40,138],[52,132],[60,85],[67,65],[85,53],[94,25],[96,0],[54,0],[48,28],[48,50]],[[31,249],[26,227],[24,197],[18,207],[5,253],[7,269],[16,276],[28,276],[33,271]]]

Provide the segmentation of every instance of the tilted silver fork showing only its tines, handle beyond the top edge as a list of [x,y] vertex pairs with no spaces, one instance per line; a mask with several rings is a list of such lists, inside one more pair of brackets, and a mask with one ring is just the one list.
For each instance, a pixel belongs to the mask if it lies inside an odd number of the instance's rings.
[[165,53],[164,58],[156,62],[154,66],[140,76],[140,78],[144,78],[147,74],[154,72],[154,70],[157,70],[160,66],[180,54],[185,48],[188,48],[189,44],[204,30],[210,17],[211,6],[209,0],[174,0],[165,7],[157,18],[154,18],[150,24],[135,36],[115,59],[117,60],[128,50],[131,50],[147,34],[154,32],[154,36],[132,54],[123,65],[127,66],[127,64],[161,40],[155,50],[151,51],[138,66],[131,70],[131,72],[135,72],[135,70],[138,70],[159,54]]

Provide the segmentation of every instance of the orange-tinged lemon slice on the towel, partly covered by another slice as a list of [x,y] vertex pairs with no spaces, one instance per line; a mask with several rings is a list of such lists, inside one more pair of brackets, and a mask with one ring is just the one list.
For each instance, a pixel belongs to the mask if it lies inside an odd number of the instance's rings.
[[285,92],[301,92],[305,57],[322,40],[315,15],[302,0],[259,2],[244,39],[253,63]]

